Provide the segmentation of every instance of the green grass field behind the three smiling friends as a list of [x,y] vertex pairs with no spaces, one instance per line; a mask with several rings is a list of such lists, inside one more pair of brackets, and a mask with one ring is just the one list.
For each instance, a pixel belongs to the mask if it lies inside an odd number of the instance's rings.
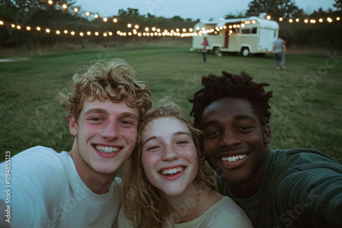
[[272,55],[207,55],[203,63],[202,54],[190,52],[184,44],[144,44],[0,62],[0,158],[4,160],[5,151],[14,156],[34,145],[70,150],[73,138],[56,95],[68,90],[76,72],[86,72],[99,59],[118,57],[148,82],[155,99],[172,96],[187,115],[191,110],[187,100],[200,88],[202,76],[245,70],[274,91],[272,149],[310,147],[342,162],[342,59],[334,55],[334,50],[323,55],[288,54],[287,70],[276,70]]

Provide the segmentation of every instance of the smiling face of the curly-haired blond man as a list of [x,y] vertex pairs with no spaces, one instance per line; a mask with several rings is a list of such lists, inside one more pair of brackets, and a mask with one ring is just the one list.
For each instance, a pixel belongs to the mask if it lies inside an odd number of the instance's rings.
[[75,136],[73,159],[78,171],[116,175],[131,156],[139,109],[126,102],[86,100],[79,118],[70,117],[70,132]]

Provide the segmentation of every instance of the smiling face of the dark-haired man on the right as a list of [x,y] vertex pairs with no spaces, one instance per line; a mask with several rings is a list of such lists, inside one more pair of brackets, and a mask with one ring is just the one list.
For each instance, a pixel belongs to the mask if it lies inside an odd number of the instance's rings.
[[[200,120],[207,161],[228,184],[250,182],[262,173],[271,140],[248,100],[223,98],[209,104]],[[261,175],[262,176],[262,175]]]

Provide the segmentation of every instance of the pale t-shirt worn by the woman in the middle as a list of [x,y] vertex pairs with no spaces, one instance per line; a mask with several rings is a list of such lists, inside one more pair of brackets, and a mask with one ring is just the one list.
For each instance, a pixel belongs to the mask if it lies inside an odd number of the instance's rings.
[[[133,227],[131,220],[124,217],[123,208],[120,210],[118,227]],[[166,221],[167,228],[252,228],[252,222],[233,199],[223,197],[198,218],[187,223],[174,224],[171,218]]]

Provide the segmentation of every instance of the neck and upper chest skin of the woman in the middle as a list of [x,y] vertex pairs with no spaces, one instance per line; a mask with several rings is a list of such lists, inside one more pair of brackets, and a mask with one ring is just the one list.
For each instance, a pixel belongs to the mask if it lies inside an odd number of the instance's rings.
[[217,192],[209,187],[195,187],[192,184],[191,188],[187,188],[181,195],[162,195],[162,198],[167,202],[166,206],[170,218],[174,223],[178,224],[198,218],[213,204],[222,199],[221,196],[220,199],[216,200],[215,193]]

